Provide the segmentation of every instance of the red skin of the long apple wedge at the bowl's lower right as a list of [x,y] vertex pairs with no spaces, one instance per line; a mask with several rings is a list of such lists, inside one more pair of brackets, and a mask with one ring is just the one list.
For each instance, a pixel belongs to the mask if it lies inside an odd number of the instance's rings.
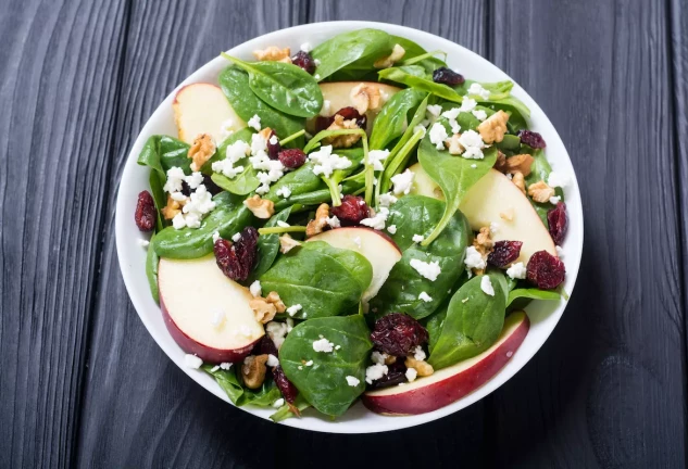
[[459,401],[497,375],[511,359],[511,356],[506,356],[506,352],[516,352],[528,334],[529,328],[530,321],[524,314],[524,319],[509,338],[495,348],[489,356],[476,363],[471,368],[462,370],[458,375],[449,376],[442,381],[428,384],[427,386],[417,388],[408,392],[401,390],[398,394],[388,395],[375,395],[374,392],[365,393],[361,400],[365,407],[374,413],[384,415],[417,415],[437,410],[438,408]]

